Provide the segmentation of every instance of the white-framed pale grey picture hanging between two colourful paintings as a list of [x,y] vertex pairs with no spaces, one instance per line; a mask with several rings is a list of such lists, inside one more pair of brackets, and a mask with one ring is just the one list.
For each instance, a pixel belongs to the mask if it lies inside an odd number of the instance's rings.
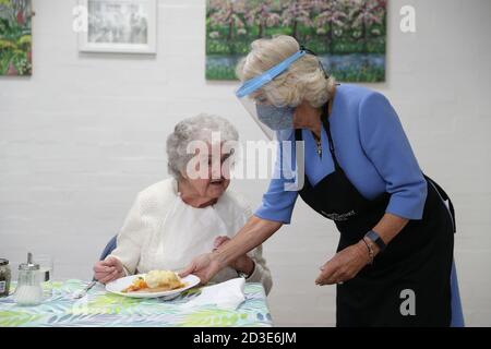
[[156,0],[81,0],[86,28],[79,32],[83,52],[155,53]]

